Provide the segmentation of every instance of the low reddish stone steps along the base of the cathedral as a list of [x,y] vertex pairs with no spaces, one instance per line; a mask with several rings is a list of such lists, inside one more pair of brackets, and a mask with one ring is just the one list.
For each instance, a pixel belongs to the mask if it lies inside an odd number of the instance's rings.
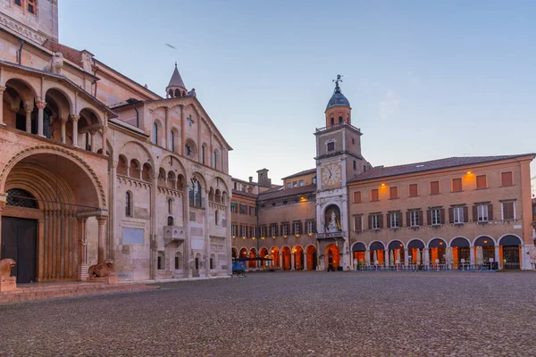
[[20,303],[32,300],[56,299],[70,296],[104,295],[113,293],[127,293],[158,289],[158,286],[144,284],[100,284],[80,283],[57,286],[23,287],[14,291],[0,294],[0,303]]

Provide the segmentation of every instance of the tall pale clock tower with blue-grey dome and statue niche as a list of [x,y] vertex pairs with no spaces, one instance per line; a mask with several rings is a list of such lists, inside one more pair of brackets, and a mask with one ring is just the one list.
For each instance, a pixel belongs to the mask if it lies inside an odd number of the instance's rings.
[[350,103],[338,75],[325,110],[325,127],[316,137],[316,224],[320,266],[347,270],[350,266],[347,181],[368,170],[361,155],[361,133],[352,125]]

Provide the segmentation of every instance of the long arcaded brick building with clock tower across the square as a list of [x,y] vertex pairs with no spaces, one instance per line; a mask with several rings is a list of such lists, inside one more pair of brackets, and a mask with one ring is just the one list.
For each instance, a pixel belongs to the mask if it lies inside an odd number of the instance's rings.
[[351,120],[337,80],[315,130],[316,168],[249,195],[257,235],[234,237],[233,250],[283,270],[531,269],[534,154],[373,167]]

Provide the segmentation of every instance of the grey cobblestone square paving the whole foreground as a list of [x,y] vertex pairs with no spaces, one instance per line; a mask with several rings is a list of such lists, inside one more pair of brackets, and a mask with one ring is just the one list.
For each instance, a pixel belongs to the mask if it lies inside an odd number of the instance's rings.
[[532,272],[278,272],[0,306],[0,355],[534,356]]

